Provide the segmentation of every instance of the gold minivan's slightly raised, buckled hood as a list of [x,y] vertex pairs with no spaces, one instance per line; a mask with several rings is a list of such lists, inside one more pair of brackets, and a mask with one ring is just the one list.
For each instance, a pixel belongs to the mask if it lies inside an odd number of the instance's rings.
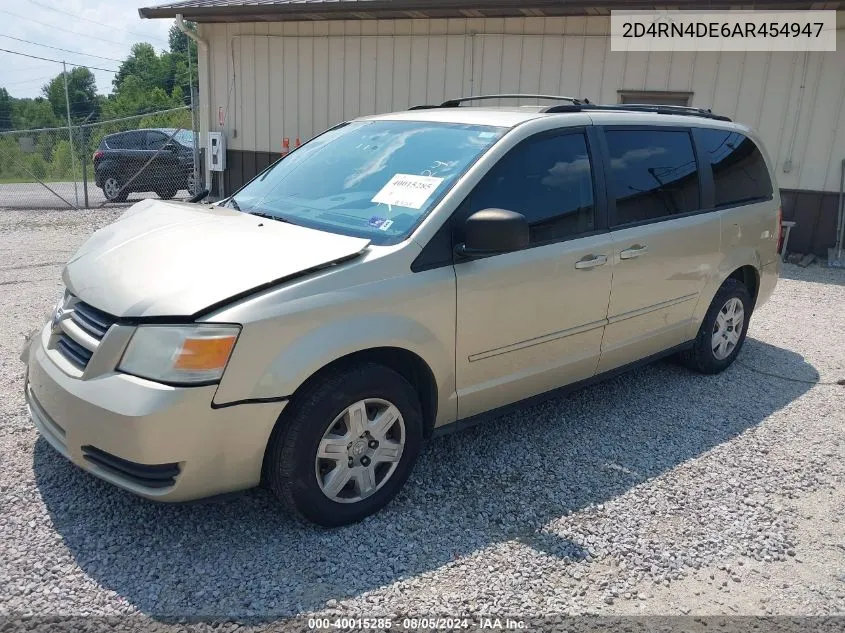
[[184,317],[349,259],[368,244],[229,208],[145,200],[94,233],[63,279],[117,317]]

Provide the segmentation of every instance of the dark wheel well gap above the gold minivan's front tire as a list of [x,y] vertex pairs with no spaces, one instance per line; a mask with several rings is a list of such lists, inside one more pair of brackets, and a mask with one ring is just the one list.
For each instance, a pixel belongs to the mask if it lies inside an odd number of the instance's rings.
[[400,374],[411,384],[420,398],[424,424],[423,432],[425,437],[430,437],[434,429],[434,420],[437,417],[437,381],[434,378],[434,372],[422,358],[401,347],[374,347],[341,356],[309,376],[291,396],[291,399],[327,373],[362,363],[384,365]]

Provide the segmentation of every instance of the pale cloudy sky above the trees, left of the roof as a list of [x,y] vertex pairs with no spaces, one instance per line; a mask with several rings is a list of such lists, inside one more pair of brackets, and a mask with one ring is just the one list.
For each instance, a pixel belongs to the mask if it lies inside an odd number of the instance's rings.
[[[117,70],[136,42],[167,49],[173,20],[147,20],[139,7],[165,0],[0,0],[0,48]],[[17,38],[17,39],[12,39]],[[73,53],[22,42],[29,40]],[[90,57],[80,53],[98,55]],[[109,58],[109,59],[102,59]],[[115,61],[117,60],[117,61]],[[70,70],[70,66],[68,67]],[[111,92],[114,73],[91,68],[97,90]],[[61,63],[40,61],[0,51],[0,87],[13,97],[37,97],[41,87],[62,71]]]

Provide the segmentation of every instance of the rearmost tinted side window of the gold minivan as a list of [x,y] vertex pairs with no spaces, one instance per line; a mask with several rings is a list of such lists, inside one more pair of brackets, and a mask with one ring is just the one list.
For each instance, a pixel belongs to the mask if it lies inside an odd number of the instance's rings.
[[717,207],[772,197],[766,161],[751,139],[731,130],[702,128],[698,133],[713,169]]

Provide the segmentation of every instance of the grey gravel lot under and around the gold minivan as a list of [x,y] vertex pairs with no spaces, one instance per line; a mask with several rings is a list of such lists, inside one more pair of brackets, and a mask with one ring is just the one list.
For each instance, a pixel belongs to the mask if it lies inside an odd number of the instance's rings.
[[387,511],[157,505],[59,457],[23,335],[121,210],[0,213],[0,614],[845,613],[845,271],[787,266],[739,362],[670,362],[431,442]]

